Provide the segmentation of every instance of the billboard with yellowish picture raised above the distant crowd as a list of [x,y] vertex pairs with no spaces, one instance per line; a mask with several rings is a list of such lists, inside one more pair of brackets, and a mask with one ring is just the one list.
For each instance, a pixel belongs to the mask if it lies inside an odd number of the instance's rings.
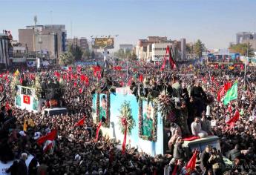
[[92,45],[95,49],[114,49],[114,38],[96,38]]

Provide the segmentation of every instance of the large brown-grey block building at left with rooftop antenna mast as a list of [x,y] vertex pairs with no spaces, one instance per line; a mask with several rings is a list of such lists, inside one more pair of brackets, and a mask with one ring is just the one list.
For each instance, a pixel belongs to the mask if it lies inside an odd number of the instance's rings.
[[19,42],[28,52],[48,52],[50,59],[57,58],[66,50],[65,25],[36,25],[19,29]]

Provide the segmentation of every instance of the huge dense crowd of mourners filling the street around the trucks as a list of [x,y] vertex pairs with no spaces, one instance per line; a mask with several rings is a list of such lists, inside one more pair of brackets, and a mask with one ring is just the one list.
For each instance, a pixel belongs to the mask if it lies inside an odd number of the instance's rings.
[[[6,163],[14,161],[7,169],[10,174],[186,174],[186,164],[190,157],[184,155],[183,138],[186,136],[220,137],[220,148],[207,146],[198,155],[198,162],[191,174],[250,174],[255,171],[255,104],[256,104],[256,69],[249,67],[246,76],[240,67],[215,68],[207,65],[180,65],[171,71],[160,71],[159,66],[140,65],[134,62],[128,74],[122,70],[111,70],[104,77],[93,76],[91,67],[82,67],[82,74],[88,76],[88,82],[80,79],[61,79],[56,77],[56,70],[41,70],[42,78],[64,81],[62,105],[68,108],[67,114],[44,116],[15,107],[10,83],[1,78],[6,97],[1,103],[0,113],[0,160]],[[136,67],[136,68],[134,68]],[[73,72],[76,68],[73,67]],[[22,70],[20,70],[22,74]],[[36,73],[30,70],[30,73]],[[66,73],[60,71],[60,77]],[[12,79],[13,72],[5,73]],[[238,80],[238,97],[232,105],[223,105],[216,96],[220,86],[225,82]],[[27,85],[32,79],[27,78]],[[246,81],[246,82],[244,82]],[[96,124],[93,123],[92,95],[95,87],[131,85],[137,96],[142,92],[167,90],[174,99],[179,116],[168,120],[165,127],[170,132],[169,153],[149,156],[127,145],[125,154],[118,149],[118,142],[108,137],[99,136],[95,142]],[[246,85],[246,87],[245,87]],[[158,93],[157,93],[158,92]],[[146,95],[146,94],[145,94]],[[212,99],[211,97],[214,97]],[[7,105],[6,105],[7,104]],[[226,125],[235,110],[240,118],[233,127]],[[75,126],[79,119],[85,117],[82,126]],[[53,130],[57,130],[56,139],[51,148],[45,151],[45,145],[37,140]],[[27,156],[33,156],[27,167]],[[227,167],[223,156],[232,161]]]

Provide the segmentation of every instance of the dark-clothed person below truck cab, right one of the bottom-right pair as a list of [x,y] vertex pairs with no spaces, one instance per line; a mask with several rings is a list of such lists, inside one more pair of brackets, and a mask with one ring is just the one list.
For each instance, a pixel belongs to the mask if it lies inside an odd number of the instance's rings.
[[223,158],[220,153],[217,152],[216,148],[212,148],[211,156],[209,158],[209,163],[212,165],[212,171],[214,175],[222,174],[221,168],[223,166]]

